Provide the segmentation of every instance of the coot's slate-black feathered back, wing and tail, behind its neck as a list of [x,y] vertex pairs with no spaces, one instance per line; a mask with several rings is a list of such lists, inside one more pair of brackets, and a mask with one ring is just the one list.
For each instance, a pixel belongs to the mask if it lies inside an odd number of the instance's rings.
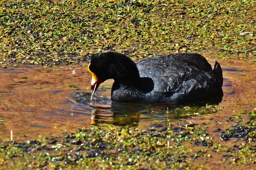
[[[222,87],[220,65],[217,63],[213,71],[199,54],[160,56],[136,64],[140,77],[153,80],[153,90],[146,93],[147,103],[191,101],[220,91]],[[145,82],[144,87],[147,86]]]

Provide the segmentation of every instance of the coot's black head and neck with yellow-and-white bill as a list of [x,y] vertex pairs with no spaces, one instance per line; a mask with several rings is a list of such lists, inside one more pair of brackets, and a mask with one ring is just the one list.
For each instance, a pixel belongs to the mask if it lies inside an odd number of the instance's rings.
[[92,74],[91,90],[108,79],[118,82],[135,82],[139,79],[136,64],[126,55],[114,52],[98,53],[91,56],[88,70]]

